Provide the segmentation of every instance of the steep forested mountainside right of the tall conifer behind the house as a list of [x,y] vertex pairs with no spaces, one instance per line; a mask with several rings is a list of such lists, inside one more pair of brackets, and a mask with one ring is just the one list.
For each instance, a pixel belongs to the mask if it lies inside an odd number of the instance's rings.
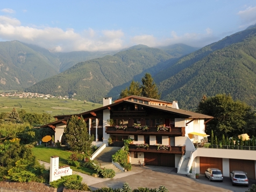
[[[256,27],[184,56],[157,79],[162,98],[195,109],[203,95],[231,94],[256,107]],[[160,76],[162,74],[162,76]]]

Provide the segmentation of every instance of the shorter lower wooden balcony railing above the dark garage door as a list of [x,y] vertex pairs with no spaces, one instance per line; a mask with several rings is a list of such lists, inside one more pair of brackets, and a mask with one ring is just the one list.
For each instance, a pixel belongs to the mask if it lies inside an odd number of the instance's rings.
[[158,150],[157,145],[150,145],[148,148],[137,148],[136,145],[129,145],[129,151],[146,152],[146,153],[171,153],[182,154],[186,153],[186,146],[170,146],[169,150]]

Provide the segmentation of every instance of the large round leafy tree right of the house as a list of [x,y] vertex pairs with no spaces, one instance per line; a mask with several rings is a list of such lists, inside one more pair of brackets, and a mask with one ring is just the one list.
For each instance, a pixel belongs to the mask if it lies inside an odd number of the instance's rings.
[[253,126],[255,124],[255,112],[251,107],[241,101],[233,101],[230,95],[219,94],[214,97],[203,97],[197,107],[197,112],[213,116],[205,132],[210,134],[211,130],[219,140],[222,134],[225,137],[238,136],[242,133],[248,133],[250,136],[255,133]]

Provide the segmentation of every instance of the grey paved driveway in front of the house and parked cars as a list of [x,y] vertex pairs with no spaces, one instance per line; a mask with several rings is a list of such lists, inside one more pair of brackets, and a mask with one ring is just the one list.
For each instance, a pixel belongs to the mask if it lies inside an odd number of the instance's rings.
[[[117,174],[113,179],[89,184],[95,190],[102,187],[122,188],[123,183],[129,183],[132,189],[138,187],[159,188],[163,185],[169,191],[235,191],[245,192],[248,187],[232,186],[229,177],[225,177],[223,182],[210,182],[204,175],[200,179],[191,179],[186,175],[177,174],[176,168],[159,166],[132,166],[131,172]],[[130,175],[125,175],[130,174]],[[104,180],[104,179],[103,179]],[[250,182],[256,184],[255,180]]]

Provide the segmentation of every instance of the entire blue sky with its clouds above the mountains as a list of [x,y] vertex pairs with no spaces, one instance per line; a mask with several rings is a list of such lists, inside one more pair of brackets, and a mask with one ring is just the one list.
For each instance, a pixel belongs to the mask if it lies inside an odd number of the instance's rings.
[[256,24],[255,0],[63,1],[0,4],[0,41],[58,52],[133,45],[203,47]]

